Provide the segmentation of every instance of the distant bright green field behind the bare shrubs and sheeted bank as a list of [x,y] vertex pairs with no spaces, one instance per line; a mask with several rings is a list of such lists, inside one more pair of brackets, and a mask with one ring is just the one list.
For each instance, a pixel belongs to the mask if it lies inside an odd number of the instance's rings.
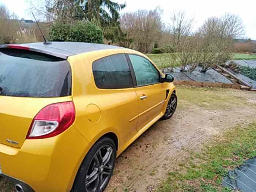
[[[173,54],[173,53],[171,53]],[[168,67],[170,54],[147,54],[147,56],[161,69]],[[233,60],[256,60],[256,54],[241,54],[241,53],[234,53]],[[179,63],[176,63],[176,66],[179,66]]]

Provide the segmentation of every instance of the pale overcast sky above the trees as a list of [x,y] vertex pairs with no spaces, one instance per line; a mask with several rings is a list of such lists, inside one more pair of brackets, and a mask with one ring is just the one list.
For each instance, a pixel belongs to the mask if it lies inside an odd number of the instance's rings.
[[[256,40],[256,0],[113,0],[125,3],[127,7],[122,12],[133,12],[138,9],[153,10],[160,6],[163,10],[162,19],[168,24],[170,15],[174,10],[186,11],[188,17],[195,19],[195,29],[201,26],[208,17],[221,16],[226,12],[239,15],[245,25],[245,38]],[[26,11],[29,7],[28,0],[0,0],[11,12],[19,18],[32,19]]]

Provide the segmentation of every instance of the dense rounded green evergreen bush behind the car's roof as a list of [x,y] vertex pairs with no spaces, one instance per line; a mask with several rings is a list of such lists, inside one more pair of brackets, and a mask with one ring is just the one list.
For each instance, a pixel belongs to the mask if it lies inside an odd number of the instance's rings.
[[103,32],[97,25],[91,22],[79,21],[74,25],[54,23],[50,27],[48,40],[103,44]]

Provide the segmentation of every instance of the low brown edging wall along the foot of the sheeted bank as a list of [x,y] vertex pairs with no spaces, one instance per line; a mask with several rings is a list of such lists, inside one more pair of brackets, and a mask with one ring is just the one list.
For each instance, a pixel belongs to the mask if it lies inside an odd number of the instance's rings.
[[222,87],[222,88],[233,88],[241,89],[240,85],[230,84],[230,83],[212,83],[212,82],[196,82],[196,81],[184,81],[184,80],[174,80],[175,85],[188,85],[197,87]]

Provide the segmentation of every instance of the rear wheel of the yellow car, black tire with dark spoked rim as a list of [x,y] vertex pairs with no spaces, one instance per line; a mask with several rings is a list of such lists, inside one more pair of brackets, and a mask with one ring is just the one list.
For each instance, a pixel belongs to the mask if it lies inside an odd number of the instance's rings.
[[71,192],[104,191],[112,177],[115,159],[116,146],[113,140],[98,140],[84,158]]

